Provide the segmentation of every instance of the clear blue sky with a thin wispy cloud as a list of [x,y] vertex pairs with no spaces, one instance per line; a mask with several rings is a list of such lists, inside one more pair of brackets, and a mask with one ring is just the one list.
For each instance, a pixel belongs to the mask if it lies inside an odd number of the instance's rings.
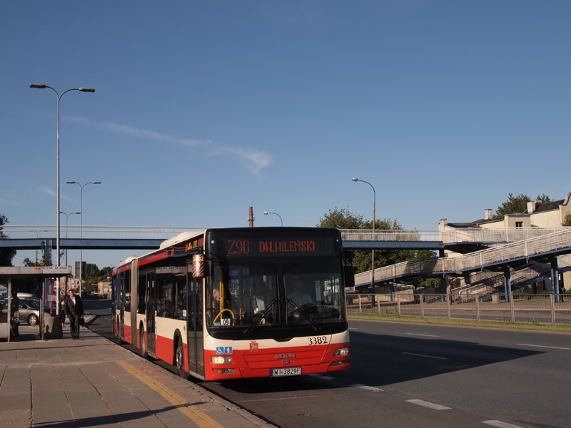
[[30,83],[96,89],[61,98],[61,210],[66,180],[101,181],[84,225],[370,219],[352,177],[408,229],[562,199],[570,21],[569,1],[3,1],[0,213],[56,223],[56,95]]

